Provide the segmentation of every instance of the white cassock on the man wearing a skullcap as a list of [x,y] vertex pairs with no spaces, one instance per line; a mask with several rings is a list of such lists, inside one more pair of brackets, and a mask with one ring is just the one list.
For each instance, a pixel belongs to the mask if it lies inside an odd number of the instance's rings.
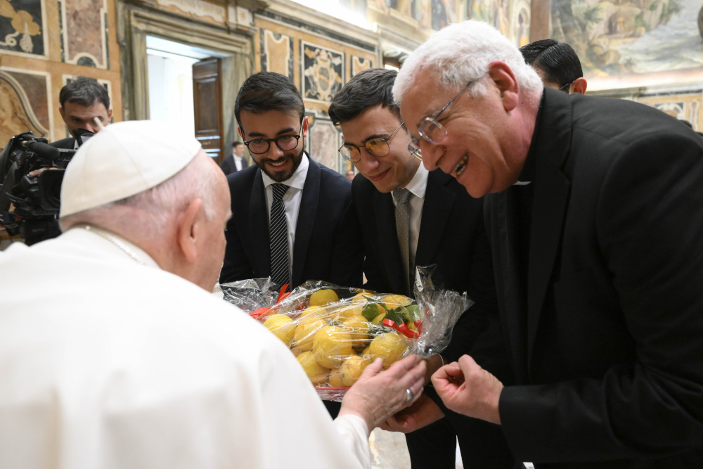
[[0,252],[0,468],[370,467],[278,338],[127,246]]

